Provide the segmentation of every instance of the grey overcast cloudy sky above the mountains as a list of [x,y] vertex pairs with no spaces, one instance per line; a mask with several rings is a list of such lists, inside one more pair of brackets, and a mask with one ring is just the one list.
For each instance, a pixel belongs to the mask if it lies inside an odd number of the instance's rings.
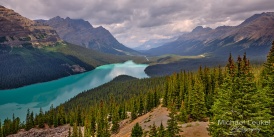
[[274,11],[274,0],[1,0],[0,5],[30,19],[82,18],[129,47]]

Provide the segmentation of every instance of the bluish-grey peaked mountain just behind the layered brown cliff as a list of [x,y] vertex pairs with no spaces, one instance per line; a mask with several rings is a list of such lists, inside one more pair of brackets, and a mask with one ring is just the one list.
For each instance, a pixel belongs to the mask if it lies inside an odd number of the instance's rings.
[[69,17],[64,19],[57,16],[50,20],[37,20],[37,22],[53,27],[59,36],[69,43],[116,55],[139,54],[137,51],[119,43],[102,26],[94,28],[88,21],[83,19],[70,19]]

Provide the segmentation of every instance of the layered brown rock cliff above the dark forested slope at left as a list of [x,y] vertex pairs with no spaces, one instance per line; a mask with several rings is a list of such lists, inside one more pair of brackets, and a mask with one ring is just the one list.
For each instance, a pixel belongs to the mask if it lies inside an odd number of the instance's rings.
[[50,26],[36,23],[3,6],[0,6],[0,26],[0,45],[43,46],[60,41]]

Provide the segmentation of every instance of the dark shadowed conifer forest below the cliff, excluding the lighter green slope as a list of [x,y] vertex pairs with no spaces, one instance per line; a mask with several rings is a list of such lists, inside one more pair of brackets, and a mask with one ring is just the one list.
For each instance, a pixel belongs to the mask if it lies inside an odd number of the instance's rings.
[[78,64],[86,70],[94,69],[74,56],[32,47],[14,47],[11,52],[0,53],[0,58],[0,89],[54,80],[68,76],[68,73],[77,74],[68,65]]

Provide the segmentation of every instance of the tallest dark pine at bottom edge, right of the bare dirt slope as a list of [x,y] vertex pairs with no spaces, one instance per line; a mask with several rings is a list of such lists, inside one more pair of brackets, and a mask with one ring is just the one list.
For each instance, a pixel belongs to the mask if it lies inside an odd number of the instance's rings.
[[167,135],[169,137],[174,137],[179,133],[179,127],[176,119],[176,109],[172,105],[171,112],[169,113],[169,120],[167,121]]

